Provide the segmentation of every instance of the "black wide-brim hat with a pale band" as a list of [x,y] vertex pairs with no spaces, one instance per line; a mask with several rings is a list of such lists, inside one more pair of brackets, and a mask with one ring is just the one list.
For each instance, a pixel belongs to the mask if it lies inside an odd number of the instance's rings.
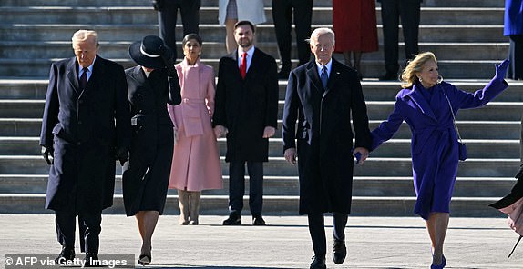
[[138,65],[160,69],[166,67],[162,55],[171,59],[174,54],[159,36],[147,35],[129,46],[129,55]]

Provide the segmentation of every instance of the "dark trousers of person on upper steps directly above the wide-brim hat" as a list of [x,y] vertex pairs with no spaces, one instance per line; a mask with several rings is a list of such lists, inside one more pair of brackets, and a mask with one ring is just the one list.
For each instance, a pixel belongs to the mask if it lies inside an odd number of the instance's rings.
[[178,53],[175,32],[178,10],[183,25],[183,35],[199,34],[201,0],[165,0],[163,2],[158,14],[159,36],[173,50],[176,59]]

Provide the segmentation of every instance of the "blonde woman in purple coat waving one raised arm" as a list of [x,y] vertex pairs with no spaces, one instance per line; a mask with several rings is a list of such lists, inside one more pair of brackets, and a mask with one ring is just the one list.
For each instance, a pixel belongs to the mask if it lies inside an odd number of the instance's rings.
[[496,75],[483,89],[467,93],[441,81],[433,53],[416,55],[401,75],[403,89],[395,97],[394,111],[372,132],[374,150],[389,140],[403,121],[412,131],[412,168],[417,196],[414,212],[426,221],[432,243],[432,269],[446,265],[443,243],[458,163],[452,113],[456,115],[459,109],[486,105],[499,95],[508,87],[504,80],[507,68],[508,60],[496,65]]

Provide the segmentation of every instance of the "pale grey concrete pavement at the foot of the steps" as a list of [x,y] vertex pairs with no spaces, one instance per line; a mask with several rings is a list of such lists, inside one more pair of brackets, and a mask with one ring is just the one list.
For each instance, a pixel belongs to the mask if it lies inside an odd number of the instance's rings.
[[[225,216],[202,215],[198,226],[178,225],[178,216],[163,215],[153,237],[151,268],[262,269],[308,268],[313,256],[307,219],[266,216],[267,226],[222,226]],[[326,216],[328,251],[332,218]],[[0,265],[5,254],[59,253],[53,214],[0,214]],[[523,268],[523,244],[507,258],[518,234],[505,218],[452,218],[446,236],[446,268]],[[430,244],[425,224],[413,217],[349,217],[348,255],[344,264],[327,268],[429,268]],[[136,254],[136,221],[104,215],[100,254]],[[77,246],[77,257],[82,257]]]

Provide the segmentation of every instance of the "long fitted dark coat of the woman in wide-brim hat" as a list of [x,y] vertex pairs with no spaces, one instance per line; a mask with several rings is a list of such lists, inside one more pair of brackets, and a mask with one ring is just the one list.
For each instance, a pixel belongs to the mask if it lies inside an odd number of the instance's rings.
[[147,77],[138,65],[126,70],[126,78],[132,128],[130,158],[122,175],[126,214],[144,209],[161,214],[174,149],[167,104],[181,103],[178,76],[168,79],[166,70],[158,69]]

